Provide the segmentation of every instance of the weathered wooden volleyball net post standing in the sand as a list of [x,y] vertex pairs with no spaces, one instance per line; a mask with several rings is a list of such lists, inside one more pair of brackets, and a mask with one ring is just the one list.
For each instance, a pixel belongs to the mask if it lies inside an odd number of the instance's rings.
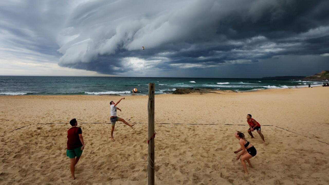
[[154,83],[148,84],[148,185],[154,185]]

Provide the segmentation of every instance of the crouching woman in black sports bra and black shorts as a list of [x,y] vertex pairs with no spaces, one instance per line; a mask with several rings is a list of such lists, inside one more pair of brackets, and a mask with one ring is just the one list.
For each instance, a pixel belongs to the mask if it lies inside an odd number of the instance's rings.
[[241,157],[240,161],[241,161],[242,167],[244,169],[244,174],[248,174],[247,165],[244,161],[247,161],[249,164],[249,167],[253,168],[249,159],[256,155],[257,150],[253,145],[250,144],[249,141],[247,141],[244,138],[244,134],[242,132],[237,131],[234,136],[239,140],[239,143],[241,145],[240,149],[234,151],[234,153],[238,153],[242,150],[242,152],[237,156],[237,160],[239,160],[239,158]]

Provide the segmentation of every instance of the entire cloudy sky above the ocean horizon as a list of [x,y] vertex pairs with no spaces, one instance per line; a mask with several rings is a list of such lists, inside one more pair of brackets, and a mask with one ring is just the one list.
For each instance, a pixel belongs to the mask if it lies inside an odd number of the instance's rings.
[[328,0],[0,1],[0,75],[262,78],[322,70]]

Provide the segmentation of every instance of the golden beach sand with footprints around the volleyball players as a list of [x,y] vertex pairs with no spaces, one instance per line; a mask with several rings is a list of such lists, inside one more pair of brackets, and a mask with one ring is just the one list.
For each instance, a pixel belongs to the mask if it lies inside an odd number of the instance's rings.
[[[314,87],[156,95],[155,183],[328,184],[328,94]],[[121,97],[0,96],[0,184],[147,184],[148,96],[118,104],[118,116],[136,125],[117,123],[112,142],[109,103]],[[265,143],[248,135],[247,114]],[[76,180],[66,157],[73,118],[86,145]],[[233,153],[237,130],[257,149],[249,175]]]

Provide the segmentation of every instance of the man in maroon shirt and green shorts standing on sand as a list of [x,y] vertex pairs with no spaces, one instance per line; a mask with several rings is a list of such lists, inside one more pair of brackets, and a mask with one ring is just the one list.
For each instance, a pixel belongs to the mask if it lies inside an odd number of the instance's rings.
[[70,158],[71,175],[72,179],[75,179],[75,165],[78,163],[83,149],[85,149],[85,143],[82,137],[82,130],[80,127],[77,127],[78,121],[76,119],[72,119],[70,121],[70,125],[71,128],[67,131],[66,156]]

